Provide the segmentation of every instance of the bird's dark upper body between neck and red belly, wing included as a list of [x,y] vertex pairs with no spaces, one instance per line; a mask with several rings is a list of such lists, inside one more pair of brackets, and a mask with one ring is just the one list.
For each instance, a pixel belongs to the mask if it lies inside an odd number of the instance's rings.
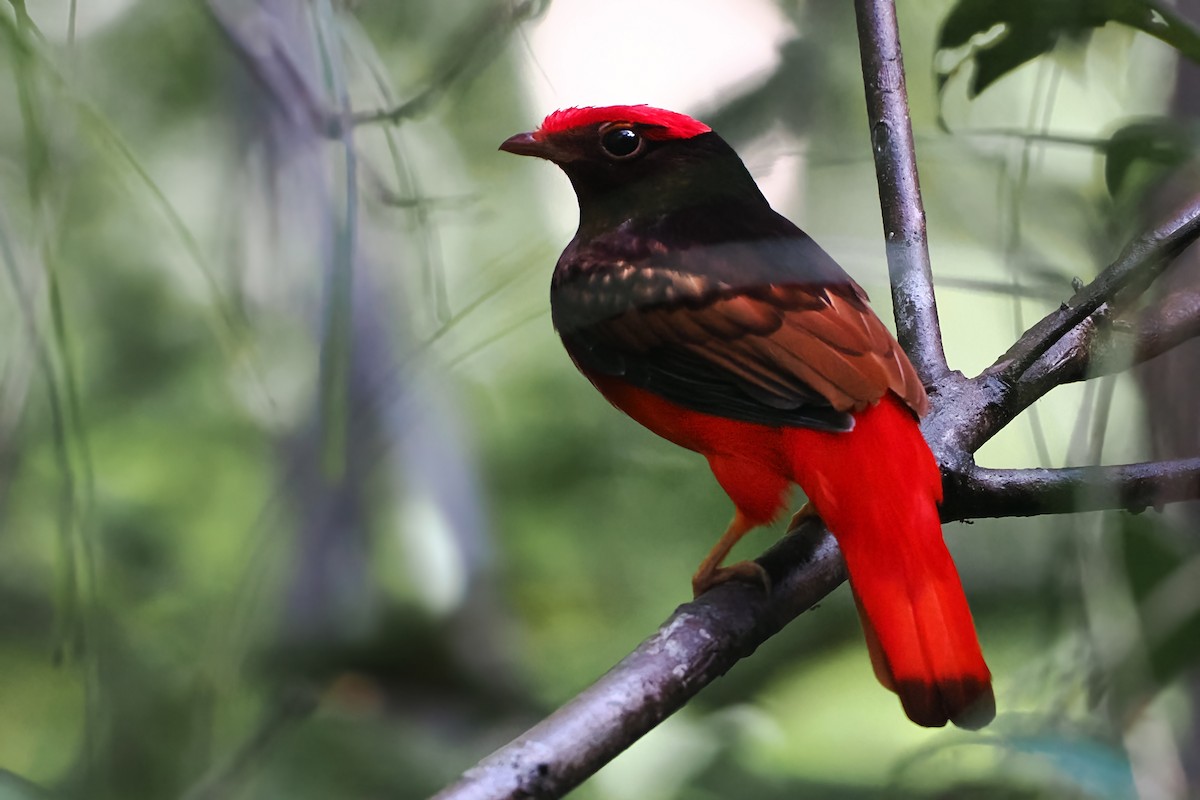
[[702,246],[678,246],[677,231],[618,230],[568,247],[553,319],[584,372],[773,426],[847,431],[851,414],[888,391],[925,413],[895,338],[811,239],[778,215],[764,237],[732,241],[722,225],[737,217],[707,219],[716,241]]

